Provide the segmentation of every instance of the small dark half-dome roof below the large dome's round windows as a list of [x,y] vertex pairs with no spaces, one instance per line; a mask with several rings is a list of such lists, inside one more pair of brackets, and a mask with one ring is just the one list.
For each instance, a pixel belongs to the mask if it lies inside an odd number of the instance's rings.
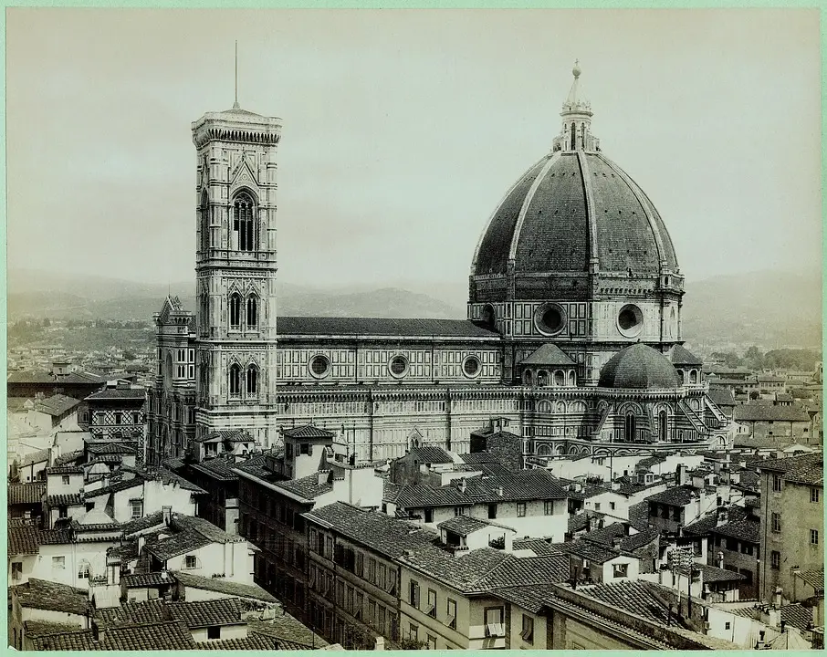
[[601,388],[680,388],[675,366],[660,351],[643,342],[621,349],[603,365]]

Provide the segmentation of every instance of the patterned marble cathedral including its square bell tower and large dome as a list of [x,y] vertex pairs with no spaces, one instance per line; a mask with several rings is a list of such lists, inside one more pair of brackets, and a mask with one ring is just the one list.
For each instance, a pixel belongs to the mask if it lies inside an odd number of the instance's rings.
[[280,445],[308,423],[358,461],[401,456],[412,436],[464,453],[492,416],[524,455],[726,446],[681,347],[675,248],[603,154],[572,73],[559,135],[479,239],[466,320],[277,317],[280,120],[236,104],[196,121],[197,308],[167,299],[156,316],[150,458],[220,430]]

